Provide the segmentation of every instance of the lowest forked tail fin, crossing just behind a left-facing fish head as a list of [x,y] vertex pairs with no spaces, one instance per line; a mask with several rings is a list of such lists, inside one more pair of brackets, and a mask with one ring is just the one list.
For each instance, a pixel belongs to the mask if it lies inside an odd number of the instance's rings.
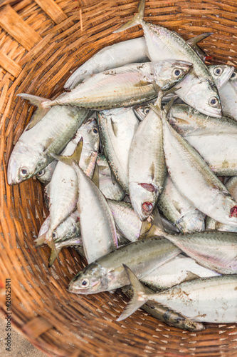
[[142,283],[139,282],[137,276],[135,276],[134,273],[123,264],[125,271],[127,273],[128,278],[130,279],[130,283],[133,288],[133,296],[131,301],[127,304],[125,310],[121,313],[120,317],[117,318],[117,321],[122,321],[125,320],[125,318],[129,317],[137,311],[138,308],[140,308],[144,303],[146,303],[149,300],[149,296],[147,293],[144,291],[144,287]]

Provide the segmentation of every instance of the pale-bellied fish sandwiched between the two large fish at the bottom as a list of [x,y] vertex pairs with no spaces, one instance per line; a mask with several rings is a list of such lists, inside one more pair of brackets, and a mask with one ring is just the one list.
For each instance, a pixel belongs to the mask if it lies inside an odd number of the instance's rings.
[[179,254],[179,256],[167,261],[167,263],[142,278],[141,281],[154,291],[158,291],[172,288],[172,286],[194,278],[207,278],[218,275],[216,271],[204,268],[204,266],[196,263],[194,259]]

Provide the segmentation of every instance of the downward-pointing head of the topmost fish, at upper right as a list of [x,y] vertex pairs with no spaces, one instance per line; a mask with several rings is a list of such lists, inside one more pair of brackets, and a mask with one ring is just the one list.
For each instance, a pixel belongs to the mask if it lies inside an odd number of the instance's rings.
[[176,93],[182,94],[183,101],[201,113],[221,117],[221,100],[216,86],[209,80],[197,80],[193,71],[184,78],[181,88]]

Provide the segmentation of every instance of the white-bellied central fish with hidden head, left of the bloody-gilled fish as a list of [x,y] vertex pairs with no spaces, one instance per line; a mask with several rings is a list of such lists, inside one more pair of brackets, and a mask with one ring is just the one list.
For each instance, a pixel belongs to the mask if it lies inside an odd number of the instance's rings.
[[112,174],[126,193],[128,188],[128,161],[132,138],[138,120],[132,108],[109,109],[98,112],[98,126],[102,148]]

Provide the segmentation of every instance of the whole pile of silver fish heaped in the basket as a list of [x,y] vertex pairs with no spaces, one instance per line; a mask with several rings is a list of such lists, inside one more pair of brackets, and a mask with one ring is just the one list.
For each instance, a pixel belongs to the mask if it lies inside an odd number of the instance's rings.
[[142,307],[201,331],[237,321],[237,72],[206,67],[196,43],[210,34],[184,41],[143,14],[141,0],[118,31],[144,37],[99,51],[58,98],[19,94],[38,109],[8,183],[47,185],[36,246],[49,266],[67,246],[88,261],[68,291],[122,288],[118,321]]

